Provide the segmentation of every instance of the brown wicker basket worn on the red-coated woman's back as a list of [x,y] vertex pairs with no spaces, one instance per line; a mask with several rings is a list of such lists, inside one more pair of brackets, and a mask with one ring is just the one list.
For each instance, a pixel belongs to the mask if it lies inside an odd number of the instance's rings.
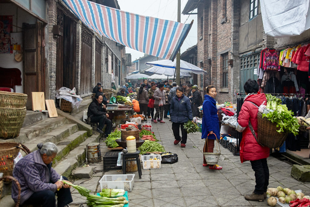
[[272,123],[267,117],[263,117],[262,113],[257,113],[258,130],[257,141],[259,144],[269,148],[281,147],[286,139],[287,133],[279,133],[279,127],[276,123]]

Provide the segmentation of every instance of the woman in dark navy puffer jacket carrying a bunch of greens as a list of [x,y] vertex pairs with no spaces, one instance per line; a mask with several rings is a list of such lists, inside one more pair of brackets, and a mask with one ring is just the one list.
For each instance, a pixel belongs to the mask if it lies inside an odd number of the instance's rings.
[[[178,87],[176,95],[173,97],[170,105],[170,118],[172,122],[172,131],[175,137],[174,144],[181,142],[181,147],[185,147],[187,132],[184,129],[184,123],[193,120],[191,103],[188,97],[183,94],[184,89]],[[180,127],[182,137],[180,137]]]

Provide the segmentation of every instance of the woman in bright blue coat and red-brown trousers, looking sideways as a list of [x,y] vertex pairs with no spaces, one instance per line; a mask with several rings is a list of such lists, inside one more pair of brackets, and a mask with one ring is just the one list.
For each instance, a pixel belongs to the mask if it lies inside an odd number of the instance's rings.
[[[202,117],[202,127],[201,127],[201,139],[206,139],[205,146],[203,147],[203,152],[213,152],[214,141],[216,137],[219,139],[219,117],[217,115],[217,108],[215,106],[216,101],[216,88],[213,85],[206,87],[207,94],[205,95],[205,100],[202,104],[203,117]],[[210,134],[208,136],[208,134]],[[215,137],[216,135],[216,137]],[[205,156],[203,156],[202,166],[208,166]],[[212,170],[222,169],[219,165],[209,165]]]

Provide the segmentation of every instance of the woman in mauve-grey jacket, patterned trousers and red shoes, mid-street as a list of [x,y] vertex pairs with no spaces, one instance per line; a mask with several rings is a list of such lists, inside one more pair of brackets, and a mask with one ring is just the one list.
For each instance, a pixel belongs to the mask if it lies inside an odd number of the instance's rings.
[[164,105],[166,104],[166,99],[165,99],[165,91],[164,91],[164,84],[160,83],[158,84],[158,89],[155,90],[154,92],[154,106],[156,109],[155,117],[160,117],[157,120],[154,119],[154,123],[160,122],[160,123],[165,123],[162,120],[162,117],[164,116]]

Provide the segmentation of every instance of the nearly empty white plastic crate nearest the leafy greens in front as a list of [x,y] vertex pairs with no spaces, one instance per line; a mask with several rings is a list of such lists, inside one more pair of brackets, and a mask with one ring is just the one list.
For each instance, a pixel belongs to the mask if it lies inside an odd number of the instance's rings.
[[[116,181],[117,179],[121,180]],[[130,192],[135,185],[135,174],[104,175],[99,183],[101,190],[104,188],[114,188]]]

